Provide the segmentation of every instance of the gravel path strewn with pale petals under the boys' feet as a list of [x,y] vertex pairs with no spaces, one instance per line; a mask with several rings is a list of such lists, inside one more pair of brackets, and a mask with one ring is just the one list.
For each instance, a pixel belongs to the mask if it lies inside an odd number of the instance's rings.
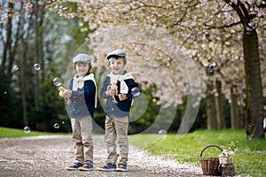
[[[94,166],[106,159],[103,136],[93,136]],[[74,162],[74,145],[70,136],[34,136],[0,139],[0,176],[203,176],[201,168],[178,164],[149,156],[143,150],[129,147],[129,172],[67,171]]]

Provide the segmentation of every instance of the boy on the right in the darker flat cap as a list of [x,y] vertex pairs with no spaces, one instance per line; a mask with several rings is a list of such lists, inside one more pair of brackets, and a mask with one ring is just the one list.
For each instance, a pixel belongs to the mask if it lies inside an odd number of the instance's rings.
[[[98,166],[100,171],[127,171],[129,155],[128,127],[129,109],[134,96],[131,89],[138,88],[130,73],[124,70],[127,63],[126,52],[113,50],[106,56],[111,73],[106,76],[100,96],[106,99],[106,164]],[[114,86],[114,87],[113,87]],[[120,148],[118,164],[116,140]]]

